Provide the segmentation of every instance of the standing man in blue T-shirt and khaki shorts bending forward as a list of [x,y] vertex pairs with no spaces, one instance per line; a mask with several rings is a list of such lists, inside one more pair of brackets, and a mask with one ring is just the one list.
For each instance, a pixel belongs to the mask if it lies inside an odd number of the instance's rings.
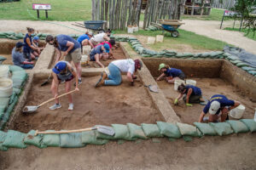
[[80,64],[80,60],[82,58],[82,54],[80,43],[73,39],[73,37],[64,34],[60,34],[56,37],[48,35],[45,41],[50,45],[54,45],[54,47],[56,48],[58,54],[55,63],[61,59],[61,51],[64,52],[62,57],[65,56],[66,61],[73,61],[79,77],[79,84],[81,84],[82,67]]

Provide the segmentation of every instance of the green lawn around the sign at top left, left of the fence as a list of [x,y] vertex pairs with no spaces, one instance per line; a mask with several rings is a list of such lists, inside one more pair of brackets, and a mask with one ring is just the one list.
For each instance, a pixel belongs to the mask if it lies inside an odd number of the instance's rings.
[[0,3],[0,20],[38,20],[32,3],[49,3],[52,10],[45,18],[40,11],[40,20],[91,20],[91,0],[21,0],[14,3]]

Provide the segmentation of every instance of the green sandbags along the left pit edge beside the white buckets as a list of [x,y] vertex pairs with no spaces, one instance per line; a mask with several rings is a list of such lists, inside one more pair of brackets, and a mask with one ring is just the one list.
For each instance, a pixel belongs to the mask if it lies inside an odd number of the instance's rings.
[[9,116],[18,102],[22,88],[27,79],[27,73],[20,66],[9,65],[11,79],[13,80],[13,94],[9,98],[0,98],[0,129],[3,129],[6,122],[9,121]]

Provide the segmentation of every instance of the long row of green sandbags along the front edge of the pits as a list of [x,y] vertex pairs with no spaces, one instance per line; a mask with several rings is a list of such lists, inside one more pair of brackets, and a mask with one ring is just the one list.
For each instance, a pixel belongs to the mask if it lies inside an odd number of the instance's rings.
[[[241,119],[240,121],[227,121],[218,123],[195,122],[195,126],[185,123],[157,122],[157,124],[142,123],[138,126],[133,123],[112,124],[114,136],[109,136],[97,131],[83,133],[63,134],[38,134],[31,130],[29,133],[20,133],[9,130],[7,133],[0,131],[0,150],[8,148],[26,148],[28,145],[35,145],[38,148],[64,147],[79,148],[86,144],[102,145],[109,140],[150,139],[166,137],[169,139],[180,139],[181,137],[202,137],[204,135],[228,135],[231,133],[256,132],[256,122],[253,119]],[[49,130],[49,132],[53,132]]]

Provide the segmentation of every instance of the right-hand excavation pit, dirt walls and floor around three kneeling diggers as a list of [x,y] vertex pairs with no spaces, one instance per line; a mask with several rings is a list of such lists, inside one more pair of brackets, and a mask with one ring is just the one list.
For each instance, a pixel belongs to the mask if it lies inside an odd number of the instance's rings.
[[[160,76],[159,65],[165,63],[170,67],[181,69],[187,79],[196,81],[196,86],[201,88],[202,94],[210,99],[214,94],[226,95],[245,105],[246,111],[242,118],[253,118],[256,108],[256,82],[255,77],[242,71],[235,65],[224,59],[143,59],[151,75],[156,78]],[[198,122],[204,106],[194,104],[188,107],[181,99],[178,105],[174,105],[174,99],[178,93],[174,85],[166,81],[157,82],[166,99],[172,105],[172,109],[180,117],[181,122],[192,124]],[[232,117],[230,117],[232,119]]]

